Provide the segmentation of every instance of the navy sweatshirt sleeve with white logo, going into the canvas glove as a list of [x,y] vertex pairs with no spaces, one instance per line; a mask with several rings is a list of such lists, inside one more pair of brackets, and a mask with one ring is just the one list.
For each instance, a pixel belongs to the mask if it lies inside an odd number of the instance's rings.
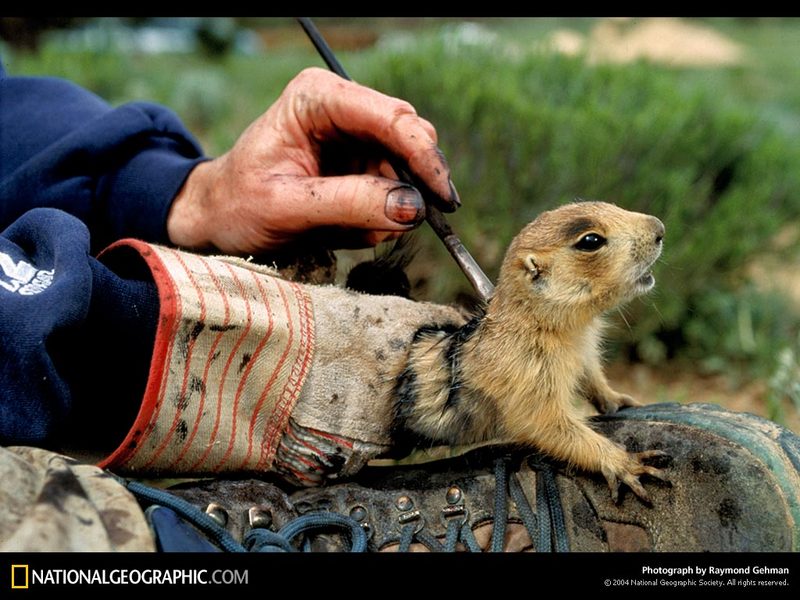
[[160,301],[135,253],[90,255],[86,225],[35,208],[0,230],[0,445],[110,452],[141,405]]

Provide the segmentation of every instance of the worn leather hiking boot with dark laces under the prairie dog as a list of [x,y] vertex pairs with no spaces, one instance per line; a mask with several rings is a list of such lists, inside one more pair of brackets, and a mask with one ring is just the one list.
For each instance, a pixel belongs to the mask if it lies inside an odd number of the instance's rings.
[[[294,539],[284,548],[314,551],[352,549],[356,529],[370,551],[800,549],[795,434],[707,404],[625,409],[596,418],[594,425],[629,451],[665,453],[656,466],[669,483],[644,478],[651,505],[630,490],[614,504],[601,475],[571,472],[507,446],[423,464],[370,466],[353,479],[318,488],[291,490],[245,479],[170,491],[237,540],[259,529],[279,536],[291,530]],[[338,528],[323,522],[292,527],[298,519],[334,515],[341,519]]]

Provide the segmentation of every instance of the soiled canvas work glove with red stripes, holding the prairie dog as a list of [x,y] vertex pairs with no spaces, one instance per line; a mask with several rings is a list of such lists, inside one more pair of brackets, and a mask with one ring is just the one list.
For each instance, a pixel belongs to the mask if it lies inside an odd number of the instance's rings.
[[143,260],[161,303],[141,409],[101,463],[120,472],[351,475],[391,446],[392,374],[414,333],[463,322],[449,307],[135,240],[102,260],[117,272]]

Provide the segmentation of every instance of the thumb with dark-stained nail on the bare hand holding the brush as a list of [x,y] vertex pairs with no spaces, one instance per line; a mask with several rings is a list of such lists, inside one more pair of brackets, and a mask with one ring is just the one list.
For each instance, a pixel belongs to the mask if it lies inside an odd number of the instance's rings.
[[407,231],[425,218],[416,188],[383,177],[287,177],[284,192],[302,203],[310,227]]

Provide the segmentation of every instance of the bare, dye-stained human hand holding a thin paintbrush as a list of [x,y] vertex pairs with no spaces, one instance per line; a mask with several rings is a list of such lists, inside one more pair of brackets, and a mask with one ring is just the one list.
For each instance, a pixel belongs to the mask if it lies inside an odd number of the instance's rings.
[[402,100],[325,71],[302,71],[233,148],[199,164],[167,218],[172,243],[229,254],[269,250],[306,232],[334,247],[375,245],[425,217],[389,156],[460,205],[433,126]]

